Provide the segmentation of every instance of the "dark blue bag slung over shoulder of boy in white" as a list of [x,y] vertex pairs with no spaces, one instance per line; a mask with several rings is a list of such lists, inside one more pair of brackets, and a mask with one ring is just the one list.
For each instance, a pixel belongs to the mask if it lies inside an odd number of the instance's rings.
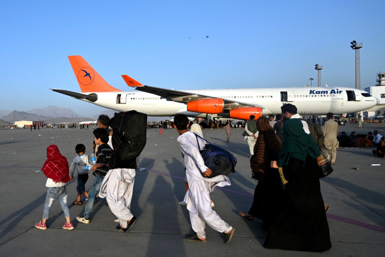
[[[237,164],[237,159],[232,153],[220,148],[219,146],[211,144],[209,141],[201,136],[198,136],[197,134],[195,134],[195,137],[196,142],[198,143],[199,152],[204,160],[204,165],[213,171],[213,174],[211,174],[208,178],[213,178],[218,175],[228,176],[230,172],[235,172],[234,168]],[[201,150],[198,138],[201,138],[208,143],[206,144],[204,150]]]

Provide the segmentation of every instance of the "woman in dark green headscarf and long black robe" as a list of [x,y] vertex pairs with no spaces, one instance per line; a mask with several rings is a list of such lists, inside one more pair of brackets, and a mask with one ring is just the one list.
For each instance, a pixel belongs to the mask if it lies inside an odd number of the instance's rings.
[[272,221],[264,247],[295,251],[322,252],[331,248],[328,221],[323,203],[316,158],[320,148],[306,134],[299,119],[283,125],[285,141],[278,161],[283,204]]

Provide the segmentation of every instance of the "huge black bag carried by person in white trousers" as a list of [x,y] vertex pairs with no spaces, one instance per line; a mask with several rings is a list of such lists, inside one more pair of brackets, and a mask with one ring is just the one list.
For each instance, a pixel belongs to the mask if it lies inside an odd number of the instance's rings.
[[137,111],[115,113],[110,120],[112,147],[120,160],[139,156],[146,146],[147,114]]

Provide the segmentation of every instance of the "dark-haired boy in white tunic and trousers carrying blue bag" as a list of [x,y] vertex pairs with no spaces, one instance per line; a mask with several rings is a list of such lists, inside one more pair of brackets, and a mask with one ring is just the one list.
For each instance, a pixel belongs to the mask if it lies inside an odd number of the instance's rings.
[[194,235],[187,236],[186,240],[206,242],[206,233],[204,232],[206,222],[211,228],[223,232],[224,242],[228,244],[235,229],[224,222],[211,208],[209,193],[216,186],[231,185],[230,180],[224,175],[208,178],[213,171],[204,165],[198,149],[198,142],[200,148],[203,149],[204,141],[200,138],[197,141],[195,134],[187,131],[188,127],[189,120],[186,115],[177,114],[174,117],[174,128],[180,135],[177,141],[184,155],[186,176],[189,183],[189,190],[186,192],[184,202],[187,203],[187,210],[190,213],[192,229],[196,232]]

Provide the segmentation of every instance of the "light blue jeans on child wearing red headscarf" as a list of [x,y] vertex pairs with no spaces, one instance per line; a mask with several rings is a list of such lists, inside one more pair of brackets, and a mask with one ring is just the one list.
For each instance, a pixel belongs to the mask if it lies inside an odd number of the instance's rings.
[[66,218],[70,217],[70,210],[67,205],[67,190],[65,189],[65,186],[57,186],[57,187],[49,187],[47,190],[47,195],[45,197],[43,218],[45,219],[49,218],[49,211],[51,209],[52,203],[54,203],[54,201],[57,199],[59,199],[60,201],[60,207],[64,212],[64,216]]

